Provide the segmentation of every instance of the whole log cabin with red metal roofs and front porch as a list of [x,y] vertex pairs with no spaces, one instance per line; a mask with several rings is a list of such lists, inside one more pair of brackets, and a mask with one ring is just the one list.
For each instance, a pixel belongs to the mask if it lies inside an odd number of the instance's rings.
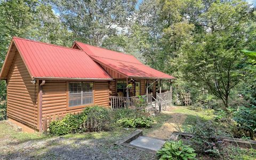
[[133,55],[81,42],[69,48],[13,37],[0,79],[6,81],[7,119],[41,132],[47,117],[87,106],[129,107],[139,96],[151,107],[170,102],[172,89],[163,93],[161,83],[174,77]]

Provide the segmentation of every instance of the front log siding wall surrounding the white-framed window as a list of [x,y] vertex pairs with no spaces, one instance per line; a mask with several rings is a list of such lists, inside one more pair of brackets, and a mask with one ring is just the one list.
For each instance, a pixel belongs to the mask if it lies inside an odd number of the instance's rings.
[[[78,113],[84,107],[68,107],[68,83],[66,81],[46,81],[43,85],[43,119],[45,116]],[[93,101],[91,105],[109,107],[108,82],[93,82]],[[91,106],[87,105],[87,106]]]

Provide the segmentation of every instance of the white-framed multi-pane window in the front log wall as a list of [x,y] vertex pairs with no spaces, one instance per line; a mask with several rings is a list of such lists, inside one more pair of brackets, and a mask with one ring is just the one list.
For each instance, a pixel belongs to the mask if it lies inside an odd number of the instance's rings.
[[93,103],[92,82],[69,82],[69,107]]

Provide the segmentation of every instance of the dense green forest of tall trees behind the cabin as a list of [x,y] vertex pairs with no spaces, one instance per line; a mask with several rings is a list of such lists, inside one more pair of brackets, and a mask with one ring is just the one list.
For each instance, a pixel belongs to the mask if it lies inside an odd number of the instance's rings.
[[[80,41],[132,54],[173,75],[179,105],[190,93],[194,106],[242,107],[244,117],[256,119],[251,112],[255,60],[241,52],[256,51],[252,5],[241,0],[145,0],[136,5],[135,0],[1,0],[0,67],[13,36],[68,47]],[[4,81],[0,99],[6,99]]]

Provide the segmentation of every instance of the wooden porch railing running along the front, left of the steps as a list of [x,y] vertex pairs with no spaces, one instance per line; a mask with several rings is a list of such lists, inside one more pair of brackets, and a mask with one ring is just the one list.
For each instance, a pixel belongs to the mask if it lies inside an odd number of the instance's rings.
[[144,103],[142,105],[152,106],[152,98],[153,98],[152,94],[149,94],[149,95],[129,97],[127,101],[126,97],[110,96],[110,106],[112,109],[135,106],[137,105],[137,103]]

